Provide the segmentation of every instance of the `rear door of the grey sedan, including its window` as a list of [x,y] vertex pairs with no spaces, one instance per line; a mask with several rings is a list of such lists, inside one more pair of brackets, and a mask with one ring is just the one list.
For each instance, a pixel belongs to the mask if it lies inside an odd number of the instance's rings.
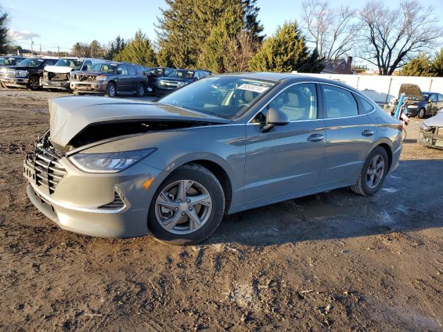
[[325,109],[325,158],[318,183],[352,178],[360,172],[377,129],[350,90],[320,84]]

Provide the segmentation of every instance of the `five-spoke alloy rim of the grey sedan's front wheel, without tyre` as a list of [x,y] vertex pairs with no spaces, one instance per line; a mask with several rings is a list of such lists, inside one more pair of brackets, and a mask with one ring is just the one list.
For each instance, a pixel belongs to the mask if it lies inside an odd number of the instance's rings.
[[167,185],[155,203],[161,227],[174,234],[190,234],[208,221],[213,208],[210,194],[197,181],[180,180]]

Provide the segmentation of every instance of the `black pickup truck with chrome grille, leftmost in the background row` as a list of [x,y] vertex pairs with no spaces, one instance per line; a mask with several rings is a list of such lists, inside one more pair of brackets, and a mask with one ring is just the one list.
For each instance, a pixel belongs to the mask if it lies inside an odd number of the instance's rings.
[[16,66],[7,67],[6,73],[1,75],[3,86],[40,89],[40,77],[45,66],[52,66],[57,58],[30,57],[19,62]]

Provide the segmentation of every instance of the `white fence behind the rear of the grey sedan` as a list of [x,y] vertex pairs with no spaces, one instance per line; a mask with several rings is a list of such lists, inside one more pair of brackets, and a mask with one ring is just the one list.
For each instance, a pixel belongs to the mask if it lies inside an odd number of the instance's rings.
[[338,80],[362,91],[377,104],[386,104],[399,95],[400,84],[417,84],[422,91],[443,93],[443,77],[419,76],[372,76],[372,75],[338,75],[338,74],[305,74],[315,77]]

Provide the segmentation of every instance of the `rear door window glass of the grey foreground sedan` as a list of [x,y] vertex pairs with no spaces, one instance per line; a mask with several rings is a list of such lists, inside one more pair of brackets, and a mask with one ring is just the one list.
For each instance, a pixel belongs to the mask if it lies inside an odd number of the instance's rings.
[[357,102],[350,91],[327,84],[321,84],[321,89],[325,95],[326,118],[343,118],[359,114]]

